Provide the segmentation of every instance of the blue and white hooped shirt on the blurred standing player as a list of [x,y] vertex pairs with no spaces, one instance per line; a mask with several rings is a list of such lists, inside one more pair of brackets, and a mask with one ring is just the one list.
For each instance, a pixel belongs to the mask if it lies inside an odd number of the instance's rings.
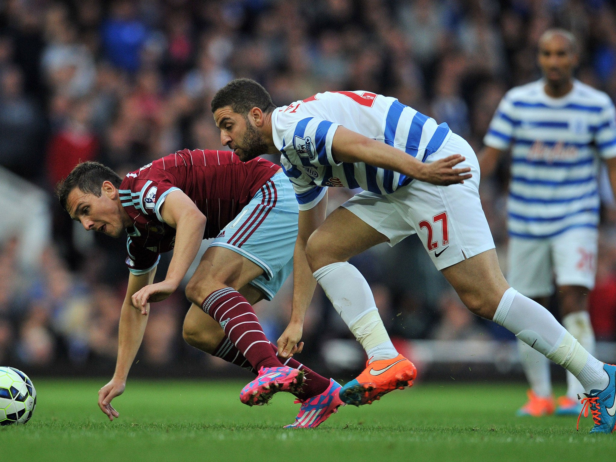
[[616,156],[614,103],[574,81],[562,98],[549,97],[543,79],[511,89],[490,123],[484,144],[512,147],[509,234],[553,237],[599,223],[601,159]]

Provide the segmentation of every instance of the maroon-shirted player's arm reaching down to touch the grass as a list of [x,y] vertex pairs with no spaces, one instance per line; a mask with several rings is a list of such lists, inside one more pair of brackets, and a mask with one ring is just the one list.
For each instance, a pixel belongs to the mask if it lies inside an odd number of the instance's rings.
[[[120,314],[118,359],[116,360],[115,373],[109,383],[99,390],[100,410],[110,420],[120,416],[118,411],[111,406],[111,400],[124,392],[128,371],[137,355],[137,351],[139,351],[141,341],[144,338],[145,326],[148,322],[147,316],[142,315],[141,310],[133,306],[132,295],[151,284],[155,274],[156,267],[146,274],[134,275],[131,273],[128,277],[128,288],[126,289],[126,296],[124,297]],[[146,312],[150,311],[149,304],[145,308]]]

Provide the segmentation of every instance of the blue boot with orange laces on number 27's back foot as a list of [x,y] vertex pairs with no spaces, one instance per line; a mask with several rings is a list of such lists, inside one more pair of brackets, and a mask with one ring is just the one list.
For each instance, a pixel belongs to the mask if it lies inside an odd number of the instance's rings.
[[582,412],[578,416],[579,429],[582,413],[588,417],[590,409],[594,421],[591,433],[611,433],[616,427],[616,365],[604,364],[603,370],[607,372],[609,384],[602,391],[591,390],[590,394],[584,394]]

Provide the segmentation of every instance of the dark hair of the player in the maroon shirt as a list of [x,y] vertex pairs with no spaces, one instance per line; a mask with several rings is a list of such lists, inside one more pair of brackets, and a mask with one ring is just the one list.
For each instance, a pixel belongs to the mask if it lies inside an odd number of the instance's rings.
[[62,208],[66,210],[68,195],[73,189],[79,188],[84,193],[100,197],[100,188],[105,181],[110,181],[116,188],[119,188],[122,183],[120,176],[102,163],[82,162],[77,164],[65,179],[58,182],[55,187],[55,195],[60,200]]

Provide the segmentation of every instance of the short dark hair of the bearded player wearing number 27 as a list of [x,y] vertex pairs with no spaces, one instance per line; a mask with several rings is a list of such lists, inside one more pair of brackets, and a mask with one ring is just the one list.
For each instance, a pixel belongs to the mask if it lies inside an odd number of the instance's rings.
[[253,107],[265,113],[276,108],[267,90],[253,79],[235,79],[217,91],[212,99],[212,112],[225,106],[245,117]]

